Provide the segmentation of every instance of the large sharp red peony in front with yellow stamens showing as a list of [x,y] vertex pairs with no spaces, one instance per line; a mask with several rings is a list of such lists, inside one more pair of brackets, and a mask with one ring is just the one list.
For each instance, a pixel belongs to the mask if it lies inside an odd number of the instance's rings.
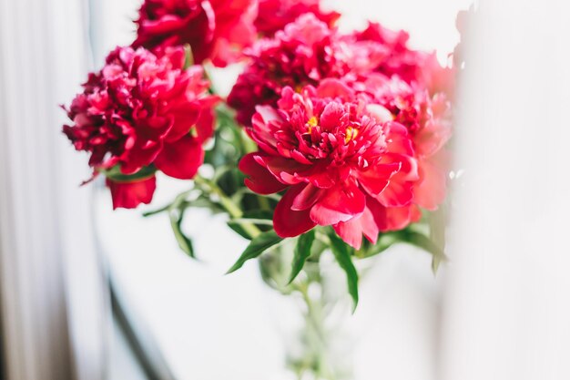
[[418,180],[412,140],[379,108],[336,79],[301,93],[285,87],[278,108],[257,108],[247,130],[260,151],[239,168],[250,190],[286,190],[273,218],[278,235],[332,225],[358,249],[362,235],[377,240],[386,208],[412,203]]

